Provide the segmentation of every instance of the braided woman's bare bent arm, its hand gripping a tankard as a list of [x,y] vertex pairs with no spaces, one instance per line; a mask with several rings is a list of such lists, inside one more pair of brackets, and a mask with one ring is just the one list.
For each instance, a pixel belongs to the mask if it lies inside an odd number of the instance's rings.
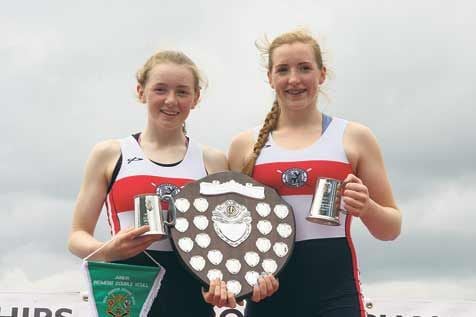
[[344,147],[355,175],[349,175],[344,191],[347,210],[360,217],[379,240],[394,240],[400,234],[401,212],[393,197],[382,153],[372,132],[349,123]]

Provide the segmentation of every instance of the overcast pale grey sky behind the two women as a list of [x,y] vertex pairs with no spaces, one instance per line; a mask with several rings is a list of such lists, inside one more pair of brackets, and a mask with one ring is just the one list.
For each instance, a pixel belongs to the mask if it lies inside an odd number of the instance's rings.
[[188,130],[226,152],[274,98],[255,42],[306,27],[331,73],[318,108],[373,131],[403,214],[391,242],[353,222],[364,295],[476,301],[475,12],[462,0],[0,1],[0,290],[86,289],[66,247],[84,163],[145,126],[135,72],[150,55],[196,62],[208,87]]

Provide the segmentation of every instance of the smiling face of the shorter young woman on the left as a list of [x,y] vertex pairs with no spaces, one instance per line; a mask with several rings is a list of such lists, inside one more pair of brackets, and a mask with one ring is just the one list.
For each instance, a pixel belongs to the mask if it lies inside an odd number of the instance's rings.
[[139,85],[137,91],[140,100],[147,104],[149,119],[167,129],[181,129],[200,96],[192,71],[172,63],[155,65],[145,87]]

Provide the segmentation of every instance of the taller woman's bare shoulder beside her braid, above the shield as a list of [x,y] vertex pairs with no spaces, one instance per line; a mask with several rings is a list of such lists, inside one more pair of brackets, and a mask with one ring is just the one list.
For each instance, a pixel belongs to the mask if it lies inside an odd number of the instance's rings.
[[245,166],[247,159],[253,152],[255,142],[255,133],[252,129],[239,133],[231,140],[228,149],[228,161],[232,171],[241,171]]

